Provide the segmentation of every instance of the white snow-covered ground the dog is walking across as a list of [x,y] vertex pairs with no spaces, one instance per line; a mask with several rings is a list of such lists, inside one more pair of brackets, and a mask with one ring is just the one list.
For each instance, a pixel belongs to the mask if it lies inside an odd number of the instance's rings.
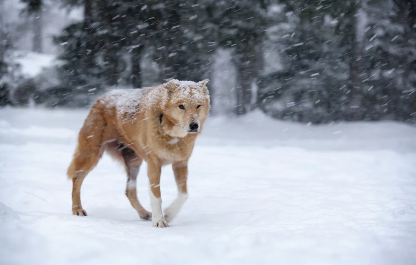
[[[141,221],[104,156],[73,216],[65,173],[87,110],[0,109],[0,264],[416,264],[416,128],[212,117],[169,228]],[[162,171],[163,206],[176,196]],[[138,194],[150,210],[146,166]]]

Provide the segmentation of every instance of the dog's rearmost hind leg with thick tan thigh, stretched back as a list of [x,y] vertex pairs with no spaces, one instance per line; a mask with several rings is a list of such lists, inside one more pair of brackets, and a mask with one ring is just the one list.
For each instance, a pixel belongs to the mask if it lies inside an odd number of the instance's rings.
[[93,107],[79,131],[77,149],[67,171],[68,178],[72,179],[72,213],[75,215],[87,216],[81,205],[81,185],[102,155],[105,126],[101,113]]

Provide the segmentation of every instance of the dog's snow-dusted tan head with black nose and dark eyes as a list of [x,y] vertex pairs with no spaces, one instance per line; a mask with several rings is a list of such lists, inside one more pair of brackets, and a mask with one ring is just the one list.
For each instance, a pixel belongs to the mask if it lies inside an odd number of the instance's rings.
[[201,130],[210,110],[206,87],[208,81],[208,79],[200,82],[173,79],[165,83],[168,100],[163,109],[163,119],[171,125],[167,132],[169,135],[185,137],[188,133],[197,133]]

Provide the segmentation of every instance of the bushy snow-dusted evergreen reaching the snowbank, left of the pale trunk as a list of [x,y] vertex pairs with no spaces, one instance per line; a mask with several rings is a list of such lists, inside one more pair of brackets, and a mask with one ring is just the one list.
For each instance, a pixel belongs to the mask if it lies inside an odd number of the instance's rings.
[[313,123],[342,119],[347,47],[329,7],[325,1],[288,1],[287,20],[269,29],[282,69],[259,80],[258,105],[266,113]]

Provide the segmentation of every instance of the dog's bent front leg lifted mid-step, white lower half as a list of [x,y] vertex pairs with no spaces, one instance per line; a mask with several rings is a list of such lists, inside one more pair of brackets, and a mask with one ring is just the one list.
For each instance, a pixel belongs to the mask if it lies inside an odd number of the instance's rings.
[[170,222],[181,210],[188,192],[186,190],[186,180],[188,178],[188,161],[175,162],[172,164],[173,174],[175,174],[176,185],[178,186],[178,197],[165,210],[165,218]]

